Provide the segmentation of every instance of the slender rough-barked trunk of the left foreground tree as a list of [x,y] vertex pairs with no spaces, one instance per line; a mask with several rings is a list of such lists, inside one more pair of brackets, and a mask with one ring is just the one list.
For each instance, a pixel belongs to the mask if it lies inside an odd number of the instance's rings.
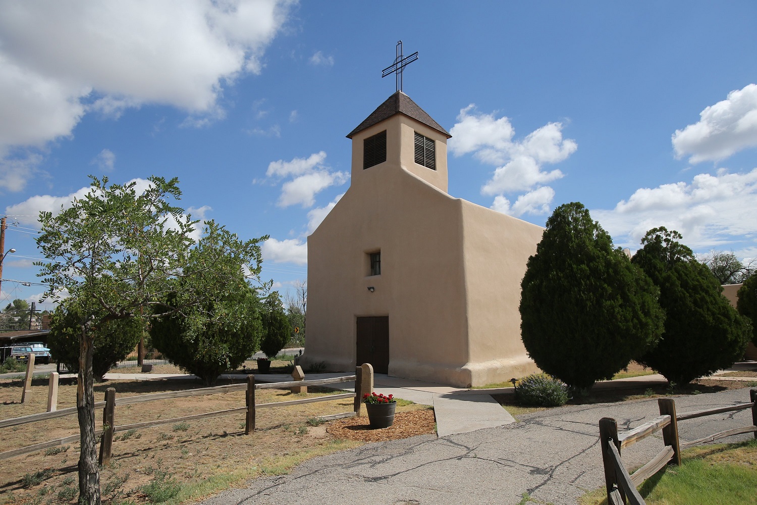
[[79,503],[100,505],[100,473],[95,438],[95,382],[92,376],[94,342],[82,325],[79,340],[79,384],[76,390],[76,413],[79,417],[81,450],[79,451]]

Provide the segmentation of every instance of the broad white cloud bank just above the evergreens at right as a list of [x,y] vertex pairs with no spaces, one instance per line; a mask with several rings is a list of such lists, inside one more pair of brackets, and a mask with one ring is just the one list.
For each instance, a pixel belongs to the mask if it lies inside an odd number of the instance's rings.
[[638,248],[641,238],[656,226],[677,229],[684,244],[695,250],[740,248],[757,235],[757,168],[749,173],[715,176],[700,173],[690,183],[676,182],[637,189],[612,210],[592,210],[614,241]]

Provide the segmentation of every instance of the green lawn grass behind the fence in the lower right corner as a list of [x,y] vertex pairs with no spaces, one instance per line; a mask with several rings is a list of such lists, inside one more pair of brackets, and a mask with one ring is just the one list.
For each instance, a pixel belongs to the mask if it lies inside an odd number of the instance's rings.
[[[691,447],[681,459],[681,466],[665,467],[639,488],[647,505],[757,503],[757,439]],[[606,491],[592,491],[579,503],[606,504]]]

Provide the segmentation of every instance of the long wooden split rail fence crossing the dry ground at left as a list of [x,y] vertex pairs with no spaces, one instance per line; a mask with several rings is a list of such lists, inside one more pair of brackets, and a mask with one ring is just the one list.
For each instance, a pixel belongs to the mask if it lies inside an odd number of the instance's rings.
[[[297,367],[299,369],[299,367]],[[304,374],[301,374],[304,378]],[[326,396],[301,398],[298,400],[290,401],[276,401],[266,404],[255,403],[255,391],[258,389],[282,389],[282,388],[307,388],[307,386],[326,385],[326,384],[338,384],[340,382],[355,382],[355,392],[353,393],[341,393],[341,394],[328,394]],[[246,413],[245,418],[245,435],[249,435],[254,432],[255,429],[255,414],[257,410],[267,409],[273,407],[287,407],[290,405],[310,404],[318,401],[333,401],[341,400],[343,398],[354,397],[354,409],[350,412],[332,414],[329,416],[319,416],[318,419],[332,420],[341,419],[344,417],[362,416],[363,415],[363,394],[369,393],[373,390],[373,367],[365,363],[363,366],[357,366],[355,369],[355,375],[332,377],[331,379],[316,379],[316,380],[294,380],[288,382],[255,382],[255,376],[248,376],[247,383],[230,384],[213,386],[210,388],[197,388],[186,389],[182,391],[166,391],[164,393],[153,394],[139,394],[136,396],[119,397],[116,398],[115,388],[107,388],[105,391],[104,401],[95,402],[95,409],[103,409],[103,429],[95,431],[95,437],[101,436],[100,443],[100,464],[107,464],[111,460],[111,447],[113,445],[113,435],[118,432],[126,432],[132,429],[145,429],[154,428],[155,426],[162,426],[166,424],[172,424],[174,422],[192,421],[197,419],[207,419],[210,417],[228,416],[235,413]],[[173,419],[157,419],[155,421],[137,422],[134,424],[115,426],[115,410],[116,407],[129,404],[139,404],[145,401],[159,401],[167,400],[169,398],[190,397],[205,394],[217,394],[217,393],[230,393],[232,391],[246,391],[245,394],[245,407],[235,407],[233,409],[217,410],[216,412],[208,412],[195,414],[192,416],[174,417]],[[299,390],[301,391],[301,390]],[[57,417],[71,416],[76,414],[77,407],[69,407],[61,410],[53,410],[51,412],[43,412],[39,414],[32,414],[30,416],[15,417],[13,419],[4,419],[0,421],[0,429],[9,428],[11,426],[19,426],[30,422],[45,421],[47,419],[55,419]],[[70,444],[79,441],[80,434],[71,435],[64,438],[56,438],[55,440],[41,442],[39,444],[28,445],[26,447],[20,447],[19,449],[6,450],[0,453],[0,460],[6,460],[11,457],[20,456],[22,454],[29,454],[37,450],[46,449],[48,447],[54,447],[56,445]]]

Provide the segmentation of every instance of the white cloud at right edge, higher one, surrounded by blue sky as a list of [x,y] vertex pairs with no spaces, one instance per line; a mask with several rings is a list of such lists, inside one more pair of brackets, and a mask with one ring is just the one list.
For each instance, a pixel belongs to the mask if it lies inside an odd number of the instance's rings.
[[699,122],[677,129],[672,142],[676,157],[691,154],[690,163],[722,160],[757,146],[757,84],[710,105],[699,113]]

